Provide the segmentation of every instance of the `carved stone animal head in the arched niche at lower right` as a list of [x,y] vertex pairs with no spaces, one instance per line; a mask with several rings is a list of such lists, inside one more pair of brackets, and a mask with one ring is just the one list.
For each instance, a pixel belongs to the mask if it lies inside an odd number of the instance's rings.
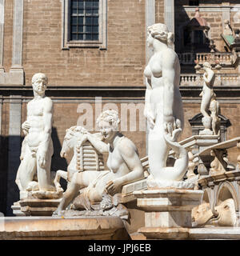
[[205,225],[213,226],[235,226],[237,221],[234,199],[229,198],[214,207],[214,213],[209,203],[202,203],[192,210],[192,221],[194,227]]

